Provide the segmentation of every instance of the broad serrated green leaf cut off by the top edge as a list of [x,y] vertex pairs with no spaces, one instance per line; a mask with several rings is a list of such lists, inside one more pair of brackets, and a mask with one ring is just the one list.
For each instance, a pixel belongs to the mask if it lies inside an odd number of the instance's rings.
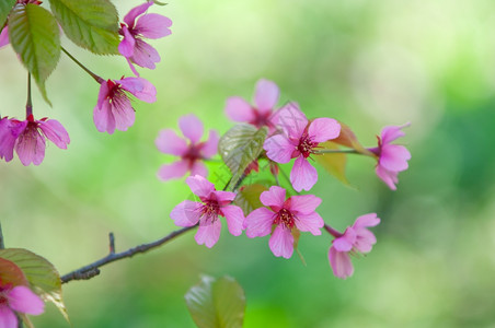
[[108,0],[49,0],[66,35],[99,55],[118,54],[118,13]]

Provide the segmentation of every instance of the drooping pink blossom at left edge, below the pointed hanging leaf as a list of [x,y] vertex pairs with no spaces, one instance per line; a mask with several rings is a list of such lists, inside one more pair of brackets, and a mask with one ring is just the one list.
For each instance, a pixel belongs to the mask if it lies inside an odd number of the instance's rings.
[[45,139],[59,149],[67,149],[70,143],[69,134],[58,120],[46,117],[35,120],[33,115],[23,121],[4,117],[0,120],[0,159],[12,161],[15,149],[23,165],[39,165],[45,159]]

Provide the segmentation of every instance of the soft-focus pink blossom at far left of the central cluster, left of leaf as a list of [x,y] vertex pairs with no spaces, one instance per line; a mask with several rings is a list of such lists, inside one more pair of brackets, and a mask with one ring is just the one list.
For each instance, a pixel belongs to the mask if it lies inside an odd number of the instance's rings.
[[158,176],[162,180],[169,180],[171,178],[180,178],[187,171],[191,171],[191,175],[206,177],[208,171],[202,161],[217,153],[218,133],[215,130],[210,130],[208,140],[199,142],[203,136],[203,124],[193,114],[181,117],[179,127],[188,140],[179,137],[172,129],[164,129],[160,131],[154,141],[162,153],[181,157],[177,162],[162,165]]

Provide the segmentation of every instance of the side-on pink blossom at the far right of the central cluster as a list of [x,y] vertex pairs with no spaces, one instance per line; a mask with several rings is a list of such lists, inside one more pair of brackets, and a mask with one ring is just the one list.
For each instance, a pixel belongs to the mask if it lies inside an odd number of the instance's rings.
[[411,160],[408,150],[400,144],[391,144],[398,138],[404,137],[405,133],[401,129],[408,127],[410,124],[403,126],[389,126],[381,130],[381,138],[378,138],[378,148],[369,149],[378,156],[377,175],[381,178],[390,189],[396,190],[395,184],[399,181],[399,172],[407,169],[407,161]]

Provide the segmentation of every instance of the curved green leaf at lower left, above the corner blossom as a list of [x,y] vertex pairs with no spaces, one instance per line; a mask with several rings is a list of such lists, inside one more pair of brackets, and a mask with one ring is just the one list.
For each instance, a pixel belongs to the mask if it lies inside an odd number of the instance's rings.
[[45,258],[23,248],[0,249],[0,257],[14,262],[24,272],[33,291],[43,300],[54,302],[69,320],[61,296],[60,274]]

